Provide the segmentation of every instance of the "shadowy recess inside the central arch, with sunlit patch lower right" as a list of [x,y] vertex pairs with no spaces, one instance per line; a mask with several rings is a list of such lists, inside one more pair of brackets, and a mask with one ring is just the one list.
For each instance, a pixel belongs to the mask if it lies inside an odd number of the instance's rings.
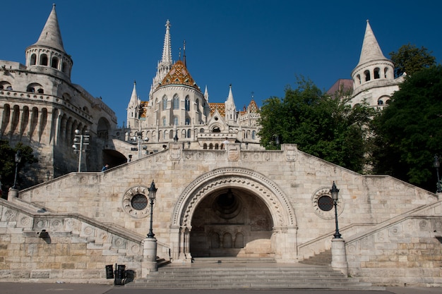
[[191,221],[192,257],[273,257],[269,209],[238,188],[214,191],[196,207]]

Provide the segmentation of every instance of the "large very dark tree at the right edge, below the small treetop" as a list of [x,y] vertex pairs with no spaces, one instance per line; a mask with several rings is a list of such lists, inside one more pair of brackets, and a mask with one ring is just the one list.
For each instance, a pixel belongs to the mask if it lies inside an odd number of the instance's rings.
[[373,127],[374,171],[434,192],[434,154],[442,154],[442,66],[407,76]]

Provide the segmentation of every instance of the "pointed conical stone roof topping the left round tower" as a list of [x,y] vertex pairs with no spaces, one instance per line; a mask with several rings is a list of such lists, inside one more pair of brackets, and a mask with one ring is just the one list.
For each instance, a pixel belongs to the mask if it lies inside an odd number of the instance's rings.
[[46,20],[38,41],[33,46],[52,47],[66,53],[63,47],[63,40],[61,39],[59,20],[56,18],[55,4],[52,5],[49,18]]

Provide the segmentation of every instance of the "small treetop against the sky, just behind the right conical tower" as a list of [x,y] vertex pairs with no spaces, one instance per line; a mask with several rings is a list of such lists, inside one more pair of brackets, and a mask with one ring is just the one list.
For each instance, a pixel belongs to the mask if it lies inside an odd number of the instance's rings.
[[391,61],[395,64],[395,77],[407,73],[414,75],[417,71],[436,65],[436,57],[431,56],[425,47],[417,48],[415,45],[406,44],[398,52],[390,52]]

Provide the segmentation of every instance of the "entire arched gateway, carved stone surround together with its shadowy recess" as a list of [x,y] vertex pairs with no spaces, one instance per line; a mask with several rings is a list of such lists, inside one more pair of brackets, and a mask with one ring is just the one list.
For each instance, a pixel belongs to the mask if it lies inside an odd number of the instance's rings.
[[171,220],[172,258],[275,257],[297,252],[294,209],[277,185],[250,169],[215,169],[181,193]]

